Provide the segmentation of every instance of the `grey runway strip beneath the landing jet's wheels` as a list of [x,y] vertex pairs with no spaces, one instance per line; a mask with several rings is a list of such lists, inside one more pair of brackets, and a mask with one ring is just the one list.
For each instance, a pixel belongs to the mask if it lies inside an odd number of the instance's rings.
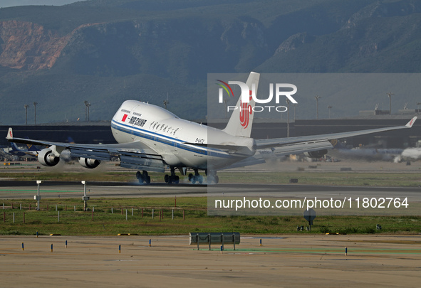
[[[83,185],[79,182],[45,181],[40,186],[43,198],[79,198],[83,196]],[[0,199],[30,199],[36,195],[35,181],[0,181]],[[95,197],[168,197],[168,196],[269,196],[302,197],[316,195],[321,198],[365,197],[381,194],[384,197],[406,196],[421,202],[419,187],[360,187],[360,186],[314,186],[294,184],[231,183],[217,185],[167,183],[88,182],[87,192]]]

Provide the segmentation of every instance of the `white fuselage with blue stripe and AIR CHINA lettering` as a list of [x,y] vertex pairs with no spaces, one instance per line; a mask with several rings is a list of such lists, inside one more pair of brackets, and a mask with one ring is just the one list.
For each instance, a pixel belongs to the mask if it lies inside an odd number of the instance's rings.
[[[118,143],[138,142],[174,167],[220,169],[254,155],[254,139],[234,137],[206,125],[180,119],[175,114],[145,102],[128,100],[111,122]],[[218,145],[214,147],[212,145]],[[241,146],[241,153],[221,146]]]

